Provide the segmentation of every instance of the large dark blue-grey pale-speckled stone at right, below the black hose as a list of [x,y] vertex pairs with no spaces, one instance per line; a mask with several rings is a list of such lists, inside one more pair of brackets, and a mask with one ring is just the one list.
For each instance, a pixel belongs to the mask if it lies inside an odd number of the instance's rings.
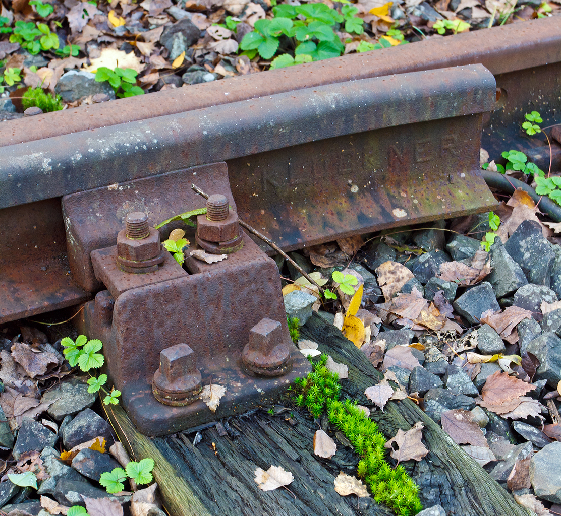
[[504,248],[522,268],[528,282],[550,286],[555,253],[535,220],[523,221]]

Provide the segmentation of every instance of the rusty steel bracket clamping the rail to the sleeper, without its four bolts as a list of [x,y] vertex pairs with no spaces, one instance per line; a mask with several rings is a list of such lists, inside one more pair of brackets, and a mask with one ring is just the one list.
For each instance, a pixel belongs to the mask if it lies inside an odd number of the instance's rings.
[[[174,433],[270,405],[296,376],[311,369],[288,334],[277,265],[245,233],[241,250],[218,263],[187,258],[185,270],[165,252],[156,272],[129,274],[116,266],[116,247],[108,244],[116,239],[118,222],[126,212],[144,208],[154,226],[174,213],[200,208],[204,199],[188,188],[195,178],[207,193],[224,194],[235,210],[224,163],[139,179],[121,190],[95,189],[63,199],[68,239],[75,252],[71,263],[75,267],[84,263],[79,276],[86,287],[107,289],[86,303],[80,331],[103,341],[107,374],[121,391],[131,420],[147,435]],[[181,211],[171,207],[172,194],[180,199]],[[90,208],[82,210],[84,206]],[[105,224],[99,225],[98,218]],[[162,239],[176,225],[164,226]],[[191,242],[185,251],[188,257],[195,249],[194,230],[187,231],[186,238]],[[98,249],[100,243],[107,247]],[[280,323],[282,341],[290,348],[287,372],[275,378],[252,375],[242,364],[250,329],[263,318]],[[186,406],[164,405],[154,397],[152,380],[160,367],[160,352],[179,344],[194,352],[203,389],[209,384],[226,388],[215,412],[198,396]]]

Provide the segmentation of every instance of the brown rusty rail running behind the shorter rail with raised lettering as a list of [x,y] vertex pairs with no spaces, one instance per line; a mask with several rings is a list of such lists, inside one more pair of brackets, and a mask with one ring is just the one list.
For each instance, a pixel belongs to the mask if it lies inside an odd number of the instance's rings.
[[[2,126],[0,146],[394,73],[481,63],[503,76],[559,62],[561,16],[554,16],[13,120]],[[533,73],[515,74],[519,85],[505,77],[509,95],[514,87],[541,104],[537,96],[546,94],[550,80],[535,80]],[[558,83],[561,74],[550,75]],[[553,100],[559,109],[559,100]]]

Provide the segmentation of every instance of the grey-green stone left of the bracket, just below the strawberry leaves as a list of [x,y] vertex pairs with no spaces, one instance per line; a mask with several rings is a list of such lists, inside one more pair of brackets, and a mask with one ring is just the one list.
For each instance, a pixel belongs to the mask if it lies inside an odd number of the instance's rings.
[[84,377],[73,376],[61,382],[58,387],[45,392],[41,403],[54,400],[47,412],[57,421],[62,421],[66,416],[74,416],[81,410],[90,408],[97,397],[97,393],[88,392]]

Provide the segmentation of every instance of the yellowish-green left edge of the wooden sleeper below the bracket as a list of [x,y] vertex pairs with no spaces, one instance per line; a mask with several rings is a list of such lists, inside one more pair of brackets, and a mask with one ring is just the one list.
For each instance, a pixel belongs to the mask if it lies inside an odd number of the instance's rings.
[[151,439],[140,434],[120,406],[107,407],[106,411],[113,429],[127,448],[131,459],[140,461],[146,457],[154,459],[154,480],[162,494],[164,508],[170,516],[210,516],[210,513],[194,494],[185,479],[164,458]]

